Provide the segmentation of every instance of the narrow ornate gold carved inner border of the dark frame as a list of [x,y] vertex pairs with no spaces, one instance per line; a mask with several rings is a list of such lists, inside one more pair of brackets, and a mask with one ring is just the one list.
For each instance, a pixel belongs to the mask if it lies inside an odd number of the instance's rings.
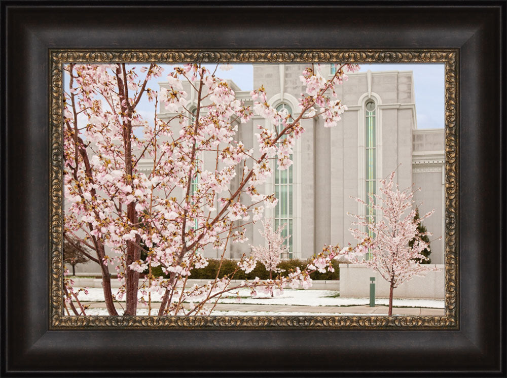
[[[49,306],[51,329],[458,329],[458,50],[49,50]],[[64,63],[444,63],[445,64],[445,316],[64,316],[63,64]]]

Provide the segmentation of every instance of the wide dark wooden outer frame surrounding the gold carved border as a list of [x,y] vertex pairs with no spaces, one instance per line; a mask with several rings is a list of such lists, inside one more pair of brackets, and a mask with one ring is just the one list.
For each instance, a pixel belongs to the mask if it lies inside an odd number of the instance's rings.
[[[505,2],[162,4],[2,2],[1,373],[504,376]],[[118,47],[457,49],[459,329],[50,330],[48,51]]]

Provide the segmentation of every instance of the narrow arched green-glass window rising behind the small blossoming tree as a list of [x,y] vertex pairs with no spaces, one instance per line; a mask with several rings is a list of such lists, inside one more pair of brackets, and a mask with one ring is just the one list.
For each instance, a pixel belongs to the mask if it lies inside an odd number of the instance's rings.
[[[375,102],[368,101],[366,103],[366,221],[368,223],[375,222],[375,209],[371,207],[374,194],[377,192],[377,160],[376,160],[376,122],[375,122]],[[371,231],[368,231],[370,237],[374,237]],[[366,259],[370,258],[370,253],[365,256]]]

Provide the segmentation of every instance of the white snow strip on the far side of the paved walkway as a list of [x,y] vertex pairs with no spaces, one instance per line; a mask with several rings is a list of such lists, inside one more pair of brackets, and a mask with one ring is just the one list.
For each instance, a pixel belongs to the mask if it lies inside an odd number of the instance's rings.
[[[79,289],[79,288],[75,288]],[[79,299],[84,302],[103,302],[103,292],[100,288],[90,288],[88,295],[84,292],[79,294]],[[113,289],[116,295],[118,289]],[[237,294],[236,294],[237,293]],[[250,291],[247,289],[234,290],[226,293],[219,300],[219,303],[242,303],[242,304],[279,304],[279,305],[304,305],[304,306],[357,306],[368,305],[369,298],[344,298],[338,297],[338,291],[332,290],[283,290],[281,295],[271,297],[261,294],[257,297],[249,297]],[[238,302],[237,295],[240,297]],[[145,298],[148,300],[148,296]],[[162,295],[152,293],[152,302],[160,302]],[[123,298],[125,301],[125,298]],[[377,298],[375,304],[388,305],[387,298]],[[423,308],[444,308],[444,300],[434,299],[396,299],[392,301],[394,307],[423,307]],[[250,314],[251,315],[251,314]]]

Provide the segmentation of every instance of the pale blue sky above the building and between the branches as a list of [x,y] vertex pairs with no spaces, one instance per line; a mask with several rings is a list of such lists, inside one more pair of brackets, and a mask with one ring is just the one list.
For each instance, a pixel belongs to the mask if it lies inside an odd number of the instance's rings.
[[[138,64],[140,68],[143,64]],[[223,79],[231,79],[241,90],[253,89],[253,65],[237,63],[231,64],[232,70],[217,70],[217,75]],[[210,71],[215,68],[214,64],[206,65]],[[159,89],[158,83],[165,81],[165,78],[172,68],[164,65],[165,70],[161,78],[152,79],[149,86],[155,90]],[[373,63],[361,64],[361,72],[374,71],[412,71],[414,75],[414,92],[416,100],[417,127],[443,128],[445,117],[445,81],[443,63]],[[136,68],[138,71],[139,68]],[[142,78],[139,71],[138,75]],[[149,103],[146,96],[143,96],[137,111],[150,123],[153,123],[153,103]]]

